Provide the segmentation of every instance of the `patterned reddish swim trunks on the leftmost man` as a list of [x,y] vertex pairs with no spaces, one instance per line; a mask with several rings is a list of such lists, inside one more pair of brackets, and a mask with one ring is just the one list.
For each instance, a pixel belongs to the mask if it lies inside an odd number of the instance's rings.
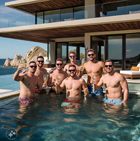
[[33,103],[34,101],[37,101],[37,99],[34,98],[19,98],[18,101],[20,104],[23,104],[24,106],[28,106],[30,103]]

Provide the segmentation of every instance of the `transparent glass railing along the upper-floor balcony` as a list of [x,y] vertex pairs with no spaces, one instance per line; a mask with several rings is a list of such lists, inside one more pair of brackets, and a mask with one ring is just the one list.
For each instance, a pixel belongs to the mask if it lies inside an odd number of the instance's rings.
[[[0,15],[0,28],[16,27],[60,21],[71,21],[79,19],[107,17],[140,13],[140,0],[124,0],[90,6],[79,6],[73,8],[44,11],[34,15],[11,14]],[[36,21],[36,23],[35,23]]]

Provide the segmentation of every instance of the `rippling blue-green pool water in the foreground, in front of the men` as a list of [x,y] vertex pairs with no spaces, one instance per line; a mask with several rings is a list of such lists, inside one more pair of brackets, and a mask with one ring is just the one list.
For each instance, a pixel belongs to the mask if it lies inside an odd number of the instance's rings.
[[0,101],[0,141],[8,129],[21,141],[139,141],[140,98],[128,107],[109,106],[92,97],[62,108],[65,95],[37,95],[37,102],[19,106],[18,97]]

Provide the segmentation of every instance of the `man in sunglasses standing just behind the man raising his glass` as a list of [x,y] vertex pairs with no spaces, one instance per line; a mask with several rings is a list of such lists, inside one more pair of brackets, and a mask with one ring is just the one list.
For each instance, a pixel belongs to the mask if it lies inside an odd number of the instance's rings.
[[[38,77],[39,85],[42,85],[44,83],[43,76],[45,75],[46,78],[47,78],[47,70],[45,68],[43,68],[44,57],[38,56],[36,64],[37,64],[37,69],[36,69],[36,72],[35,72],[35,76]],[[40,90],[36,89],[36,93],[39,93],[39,94],[46,93],[46,90],[43,89],[43,90],[40,91]]]

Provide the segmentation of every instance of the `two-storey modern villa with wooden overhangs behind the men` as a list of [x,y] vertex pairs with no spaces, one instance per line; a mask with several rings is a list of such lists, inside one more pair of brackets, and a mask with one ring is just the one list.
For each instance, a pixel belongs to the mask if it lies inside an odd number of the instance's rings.
[[0,29],[0,37],[46,43],[51,63],[77,60],[87,49],[98,60],[110,58],[119,69],[140,61],[140,0],[16,0],[7,7],[34,16],[34,24]]

